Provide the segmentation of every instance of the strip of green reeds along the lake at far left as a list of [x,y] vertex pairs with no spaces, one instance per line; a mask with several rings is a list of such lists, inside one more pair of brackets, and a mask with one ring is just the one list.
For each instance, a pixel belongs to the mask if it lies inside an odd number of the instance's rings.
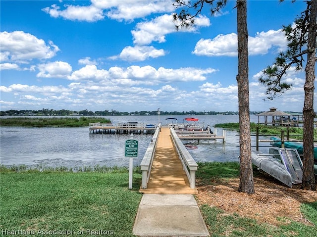
[[15,127],[84,127],[89,123],[110,123],[109,119],[100,117],[28,117],[28,118],[4,118],[0,119],[0,126]]

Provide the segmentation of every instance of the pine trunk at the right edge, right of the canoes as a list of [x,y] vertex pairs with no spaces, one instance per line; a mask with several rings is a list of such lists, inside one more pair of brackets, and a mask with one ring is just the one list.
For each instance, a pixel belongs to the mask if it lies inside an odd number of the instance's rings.
[[[317,1],[309,1],[309,33],[308,33],[308,54],[305,68],[306,81],[304,85],[305,100],[303,108],[304,136],[303,136],[303,183],[302,189],[316,190],[314,175],[314,82],[316,64],[316,37],[317,37]],[[308,7],[309,8],[309,7]]]

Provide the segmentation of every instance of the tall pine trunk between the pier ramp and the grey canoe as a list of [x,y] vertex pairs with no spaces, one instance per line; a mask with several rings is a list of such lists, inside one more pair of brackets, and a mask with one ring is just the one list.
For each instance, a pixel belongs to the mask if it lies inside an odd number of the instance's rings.
[[240,184],[238,191],[254,193],[251,160],[251,136],[249,113],[249,66],[247,1],[237,0],[238,23],[238,98],[240,128]]

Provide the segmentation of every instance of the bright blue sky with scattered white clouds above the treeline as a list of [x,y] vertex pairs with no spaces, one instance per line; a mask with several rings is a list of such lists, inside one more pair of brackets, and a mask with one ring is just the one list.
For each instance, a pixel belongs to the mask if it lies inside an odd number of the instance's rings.
[[[235,1],[178,32],[172,3],[1,0],[0,109],[238,111]],[[248,1],[251,111],[302,111],[304,72],[290,70],[292,90],[273,101],[258,78],[286,48],[282,25],[305,8]]]

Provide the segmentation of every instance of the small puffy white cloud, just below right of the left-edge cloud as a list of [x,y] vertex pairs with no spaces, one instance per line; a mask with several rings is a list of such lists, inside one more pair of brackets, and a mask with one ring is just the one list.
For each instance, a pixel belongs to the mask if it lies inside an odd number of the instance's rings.
[[40,72],[36,76],[44,78],[65,78],[72,71],[72,67],[67,62],[61,61],[39,64],[38,67]]

